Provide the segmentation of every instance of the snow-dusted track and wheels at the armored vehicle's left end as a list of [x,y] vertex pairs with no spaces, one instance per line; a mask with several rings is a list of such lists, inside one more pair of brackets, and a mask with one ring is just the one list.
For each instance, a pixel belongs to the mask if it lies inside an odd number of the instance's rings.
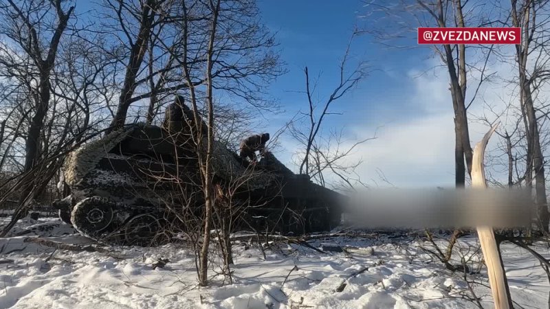
[[99,242],[149,246],[166,241],[160,233],[162,214],[156,208],[91,196],[76,203],[71,222],[80,234]]

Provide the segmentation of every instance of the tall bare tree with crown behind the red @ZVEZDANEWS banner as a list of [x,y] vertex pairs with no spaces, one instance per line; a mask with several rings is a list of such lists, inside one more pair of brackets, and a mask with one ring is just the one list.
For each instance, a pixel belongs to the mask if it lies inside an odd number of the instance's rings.
[[[481,6],[487,7],[491,3]],[[481,27],[494,23],[498,16],[493,10],[476,8],[476,3],[461,0],[399,0],[392,3],[377,3],[366,1],[367,13],[377,15],[383,13],[382,18],[367,20],[368,25],[364,32],[371,34],[384,45],[402,47],[401,40],[416,38],[416,28],[421,27]],[[382,30],[377,23],[388,23],[392,19],[391,29]],[[397,22],[395,19],[398,19]],[[470,132],[468,128],[467,109],[476,99],[481,83],[487,79],[485,69],[492,54],[492,47],[466,45],[430,45],[436,56],[441,60],[447,71],[450,82],[450,93],[454,110],[454,159],[455,183],[457,187],[465,185],[465,174],[472,169],[472,147],[470,146]],[[408,48],[415,48],[410,47]],[[468,56],[467,49],[478,49],[479,58]],[[473,54],[473,53],[472,53]],[[481,65],[479,65],[481,62]],[[467,78],[470,71],[478,71],[481,78],[476,85],[476,91],[468,99]]]

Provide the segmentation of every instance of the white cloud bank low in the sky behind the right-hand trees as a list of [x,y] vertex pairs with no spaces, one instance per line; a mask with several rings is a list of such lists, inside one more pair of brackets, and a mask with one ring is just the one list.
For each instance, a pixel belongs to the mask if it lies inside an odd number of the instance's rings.
[[[348,158],[351,162],[359,159],[364,161],[357,171],[363,181],[371,184],[380,183],[377,170],[381,170],[386,179],[398,187],[454,185],[454,112],[449,76],[445,67],[439,65],[437,59],[431,59],[421,63],[417,69],[410,69],[406,73],[407,86],[410,87],[393,84],[380,89],[384,92],[412,89],[408,93],[401,93],[403,104],[413,106],[413,110],[419,113],[408,115],[399,109],[401,106],[395,106],[395,111],[382,115],[384,118],[377,119],[377,123],[349,127],[350,136],[355,135],[357,140],[373,137],[375,133],[377,135],[377,139],[362,144]],[[501,122],[499,130],[502,132],[505,128],[511,131],[511,126],[515,124],[515,116],[507,118],[507,115],[503,114],[498,117],[487,108],[492,106],[494,111],[501,112],[505,111],[507,104],[517,104],[516,91],[506,82],[513,78],[514,67],[496,62],[487,66],[485,74],[492,72],[502,72],[500,76],[506,77],[484,82],[469,109],[472,148],[489,128],[487,124],[476,120],[476,117],[485,116],[489,121],[498,118]],[[476,91],[481,73],[472,71],[468,78],[467,102]],[[494,135],[489,142],[489,152],[502,142]],[[291,153],[296,148],[291,145],[294,143],[285,138],[282,144],[287,151],[280,154],[281,160],[292,165]],[[348,145],[352,144],[350,141]],[[488,168],[490,169],[490,166]],[[493,175],[495,174],[498,173],[494,172]],[[501,175],[502,171],[497,176]]]

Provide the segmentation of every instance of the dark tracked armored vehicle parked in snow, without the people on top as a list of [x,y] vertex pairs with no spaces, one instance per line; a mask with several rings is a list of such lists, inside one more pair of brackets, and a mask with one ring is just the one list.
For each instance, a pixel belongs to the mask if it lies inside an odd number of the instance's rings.
[[[84,236],[122,244],[159,244],[196,228],[203,192],[197,143],[186,137],[133,124],[78,148],[63,170],[70,195],[54,203],[61,219]],[[270,152],[252,165],[216,142],[212,165],[214,217],[231,218],[232,231],[296,235],[340,222],[342,196]]]

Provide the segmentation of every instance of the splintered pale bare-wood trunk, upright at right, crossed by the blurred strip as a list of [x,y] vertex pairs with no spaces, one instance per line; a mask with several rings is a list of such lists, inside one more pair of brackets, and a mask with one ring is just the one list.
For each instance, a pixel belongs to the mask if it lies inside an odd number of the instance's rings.
[[[497,126],[498,124],[495,124],[491,130],[485,134],[483,139],[476,144],[472,159],[472,187],[487,187],[483,157],[485,156],[487,143]],[[489,276],[494,306],[496,309],[514,308],[511,302],[503,260],[494,237],[494,229],[492,227],[477,227],[477,233],[479,242],[481,243],[481,250],[483,251],[483,258],[487,265],[487,275]]]

